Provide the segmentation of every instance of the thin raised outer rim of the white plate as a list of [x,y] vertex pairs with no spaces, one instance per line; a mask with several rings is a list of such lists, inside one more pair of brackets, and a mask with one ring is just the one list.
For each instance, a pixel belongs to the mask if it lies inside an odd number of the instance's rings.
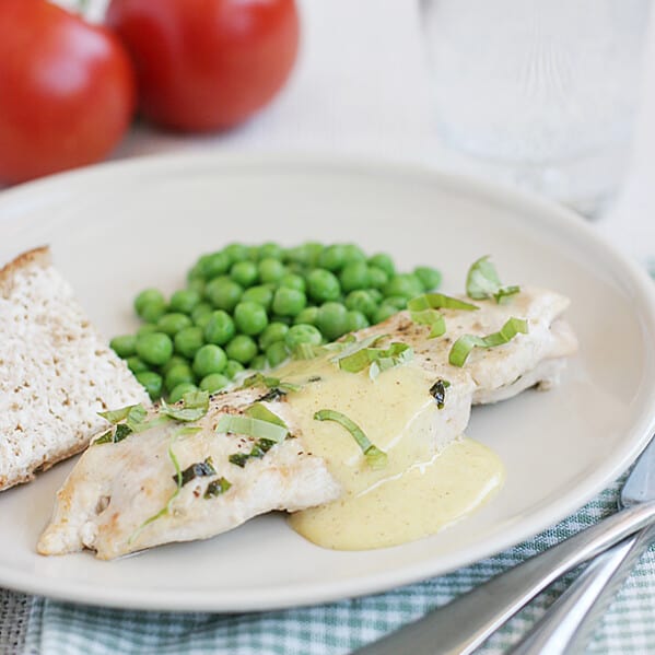
[[[174,154],[155,154],[139,156],[128,160],[105,162],[95,166],[80,168],[52,175],[43,179],[4,189],[0,192],[0,229],[12,221],[12,212],[5,212],[14,204],[22,204],[23,199],[28,199],[27,204],[38,207],[48,200],[51,194],[74,191],[79,186],[89,188],[93,184],[103,184],[104,178],[114,175],[131,176],[134,172],[156,174],[159,171],[169,172],[171,168],[190,171],[196,167],[201,169],[241,166],[244,169],[274,165],[279,172],[282,168],[320,173],[321,171],[366,174],[369,176],[394,178],[422,178],[447,188],[458,195],[473,197],[488,201],[490,204],[510,206],[534,213],[536,221],[553,229],[555,232],[568,231],[576,241],[584,243],[585,247],[595,247],[609,257],[616,270],[621,272],[623,283],[630,283],[634,305],[640,309],[640,324],[647,335],[655,336],[655,290],[646,272],[635,261],[632,261],[603,234],[594,230],[585,219],[574,211],[557,204],[548,199],[540,198],[525,190],[512,186],[491,183],[468,174],[455,173],[437,166],[421,163],[395,162],[390,160],[372,160],[360,156],[342,156],[330,154],[289,153],[289,152],[246,152],[246,153],[217,153],[217,152],[185,152]],[[65,194],[66,196],[66,194]],[[35,197],[38,199],[35,201]],[[651,358],[652,359],[652,358]],[[646,398],[655,407],[655,371],[651,365],[650,394]],[[642,383],[645,384],[645,383]],[[455,561],[451,565],[438,565],[440,559],[422,560],[414,565],[397,566],[391,571],[377,574],[366,574],[361,577],[351,577],[347,581],[321,583],[319,588],[315,584],[294,583],[284,589],[258,588],[239,593],[230,592],[230,597],[221,597],[220,590],[211,592],[191,589],[187,592],[152,590],[134,588],[100,588],[78,581],[63,581],[60,578],[38,578],[36,574],[13,571],[0,562],[0,585],[19,592],[47,596],[59,600],[81,603],[87,605],[115,607],[140,610],[168,610],[168,611],[252,611],[272,610],[289,607],[301,607],[320,603],[335,601],[350,597],[364,596],[385,592],[401,585],[426,580],[435,575],[444,575],[449,571],[469,565],[486,557],[491,557],[534,535],[547,529],[549,526],[565,518],[603,489],[619,477],[641,451],[655,430],[655,411],[646,411],[648,405],[644,400],[643,407],[632,429],[625,435],[629,447],[620,457],[610,458],[604,466],[586,476],[583,482],[560,496],[557,501],[540,506],[535,514],[524,519],[508,533],[510,536],[499,536],[491,540],[478,543],[467,550],[467,557]],[[578,492],[580,486],[584,493]],[[577,490],[577,491],[576,491]],[[575,498],[573,498],[575,496]],[[553,508],[554,507],[554,508]],[[443,558],[442,558],[443,559]],[[254,598],[253,596],[256,596]]]

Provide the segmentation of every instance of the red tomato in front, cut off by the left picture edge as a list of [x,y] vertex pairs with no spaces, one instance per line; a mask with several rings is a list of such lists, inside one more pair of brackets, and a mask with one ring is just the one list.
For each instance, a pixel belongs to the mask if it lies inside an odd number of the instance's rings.
[[122,45],[44,0],[0,0],[0,179],[104,157],[136,104]]

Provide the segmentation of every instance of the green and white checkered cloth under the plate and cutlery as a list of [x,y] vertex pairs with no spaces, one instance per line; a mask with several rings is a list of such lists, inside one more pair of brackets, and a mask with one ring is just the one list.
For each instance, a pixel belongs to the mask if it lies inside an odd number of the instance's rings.
[[[496,557],[449,575],[365,598],[236,616],[100,609],[35,598],[24,646],[15,652],[27,655],[344,654],[611,514],[616,511],[620,486],[621,480],[559,525]],[[506,652],[574,575],[552,585],[491,638],[480,653]],[[1,644],[0,639],[0,652]],[[589,652],[655,653],[655,549],[644,555],[616,598]]]

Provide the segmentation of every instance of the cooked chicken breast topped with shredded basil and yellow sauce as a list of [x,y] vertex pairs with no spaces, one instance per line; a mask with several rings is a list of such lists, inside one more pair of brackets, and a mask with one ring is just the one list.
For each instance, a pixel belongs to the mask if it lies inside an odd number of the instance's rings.
[[[459,437],[471,403],[494,402],[528,386],[553,384],[563,359],[577,347],[571,329],[560,318],[569,301],[557,293],[524,290],[506,304],[478,304],[477,312],[443,311],[447,332],[436,339],[429,339],[430,328],[412,323],[406,312],[356,334],[359,340],[386,335],[387,342],[411,346],[414,358],[402,366],[412,366],[417,375],[423,376],[420,379],[425,379],[426,394],[432,382],[449,382],[444,409],[430,414],[433,421],[428,436],[434,452]],[[511,316],[527,319],[527,335],[517,335],[496,348],[475,349],[464,367],[448,363],[449,349],[459,336],[498,331]],[[308,360],[304,364],[302,374],[296,363],[295,369],[282,369],[274,375],[289,379],[288,373],[291,382],[312,382],[313,370],[319,364],[325,367],[326,362]],[[331,367],[335,375],[366,375]],[[400,366],[382,373],[378,382],[397,369]],[[377,382],[361,387],[371,391],[366,397],[364,390],[359,401],[381,402],[375,396],[381,388]],[[119,443],[91,445],[57,494],[55,513],[38,542],[38,552],[60,554],[89,548],[101,559],[113,559],[161,543],[204,539],[273,510],[294,512],[339,498],[338,476],[330,472],[324,458],[307,452],[303,430],[312,430],[312,423],[299,416],[292,401],[294,394],[266,399],[268,391],[266,387],[250,387],[214,395],[208,413],[195,423],[201,429],[196,434],[179,434],[180,423],[173,422],[130,434]],[[272,446],[261,458],[248,459],[242,468],[229,457],[248,453],[255,440],[217,433],[215,428],[223,414],[243,414],[258,400],[285,422],[293,436]],[[426,405],[430,402],[419,398],[417,411]],[[154,417],[156,409],[150,413]],[[191,479],[171,500],[177,489],[171,453],[180,469],[211,457],[215,475]],[[231,487],[206,498],[208,486],[221,477]]]

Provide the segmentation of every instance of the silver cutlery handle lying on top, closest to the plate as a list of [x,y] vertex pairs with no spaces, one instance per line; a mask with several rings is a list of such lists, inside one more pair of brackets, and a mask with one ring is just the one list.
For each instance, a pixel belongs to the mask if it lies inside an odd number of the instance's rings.
[[[356,655],[469,655],[560,575],[653,524],[655,502],[641,503],[496,575]],[[353,654],[355,655],[355,654]]]

